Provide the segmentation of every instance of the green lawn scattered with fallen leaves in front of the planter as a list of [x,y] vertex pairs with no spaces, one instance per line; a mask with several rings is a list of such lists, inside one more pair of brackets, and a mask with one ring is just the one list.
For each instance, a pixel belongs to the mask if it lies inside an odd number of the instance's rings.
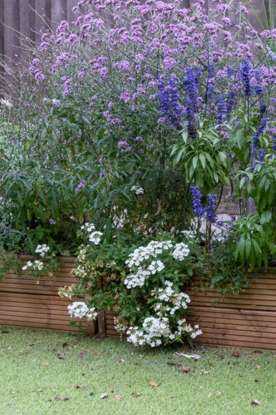
[[276,414],[275,352],[199,347],[191,361],[175,351],[191,353],[2,327],[0,414]]

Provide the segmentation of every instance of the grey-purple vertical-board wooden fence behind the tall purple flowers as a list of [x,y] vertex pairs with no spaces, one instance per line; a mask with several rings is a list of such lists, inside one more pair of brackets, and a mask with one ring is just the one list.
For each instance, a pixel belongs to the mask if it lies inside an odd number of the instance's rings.
[[[5,56],[9,61],[14,58],[17,60],[22,38],[28,37],[33,41],[38,41],[39,32],[46,28],[46,21],[53,27],[61,20],[74,20],[72,7],[76,6],[77,1],[0,0],[0,56]],[[235,1],[237,4],[246,3],[245,0]],[[193,3],[193,0],[182,1],[186,7],[190,6],[191,2]],[[206,10],[211,3],[212,0],[206,0]],[[261,15],[262,0],[253,0],[253,4]],[[250,12],[250,21],[255,28],[258,28],[253,12]]]

